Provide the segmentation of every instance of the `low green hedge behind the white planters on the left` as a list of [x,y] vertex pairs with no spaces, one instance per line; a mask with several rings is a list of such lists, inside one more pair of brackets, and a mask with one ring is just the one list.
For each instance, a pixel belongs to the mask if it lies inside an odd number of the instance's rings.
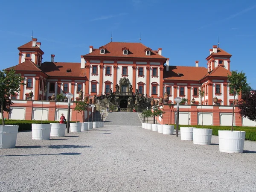
[[[75,121],[71,121],[75,122]],[[79,121],[78,121],[79,122]],[[5,125],[19,125],[19,131],[25,131],[25,130],[32,130],[32,123],[36,124],[50,124],[50,123],[59,123],[59,121],[36,121],[36,120],[12,120],[12,119],[6,119]],[[64,122],[67,123],[67,122]],[[2,125],[2,119],[0,119],[0,125]]]

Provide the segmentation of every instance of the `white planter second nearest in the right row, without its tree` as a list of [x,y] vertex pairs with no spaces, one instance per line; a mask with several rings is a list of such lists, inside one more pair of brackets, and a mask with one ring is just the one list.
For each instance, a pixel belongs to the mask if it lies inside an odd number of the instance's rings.
[[197,145],[211,145],[212,129],[193,128],[193,143]]

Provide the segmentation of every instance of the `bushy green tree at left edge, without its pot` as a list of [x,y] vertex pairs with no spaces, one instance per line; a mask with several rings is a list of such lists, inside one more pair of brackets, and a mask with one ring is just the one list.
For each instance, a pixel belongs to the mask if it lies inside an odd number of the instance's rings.
[[15,95],[15,92],[20,91],[20,84],[23,78],[20,74],[15,74],[15,70],[12,68],[9,71],[0,71],[0,103],[3,125],[5,125],[3,111],[12,113],[10,106],[12,105],[11,95]]

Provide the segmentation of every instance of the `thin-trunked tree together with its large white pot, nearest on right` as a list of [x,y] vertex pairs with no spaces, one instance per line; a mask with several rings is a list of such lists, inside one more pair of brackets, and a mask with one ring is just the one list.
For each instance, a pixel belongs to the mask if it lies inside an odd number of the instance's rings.
[[231,75],[227,76],[229,81],[230,93],[233,93],[233,106],[232,106],[232,124],[231,131],[219,130],[219,150],[226,153],[243,153],[244,151],[244,139],[245,131],[233,131],[234,125],[234,108],[236,95],[240,95],[241,90],[246,87],[247,78],[245,73],[231,71]]

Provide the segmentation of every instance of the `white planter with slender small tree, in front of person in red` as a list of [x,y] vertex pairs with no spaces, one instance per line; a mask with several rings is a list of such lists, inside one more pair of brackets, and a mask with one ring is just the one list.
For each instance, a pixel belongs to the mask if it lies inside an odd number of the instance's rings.
[[[61,93],[57,95],[56,100],[58,101],[58,108],[60,108],[60,101],[62,101],[65,98],[64,95]],[[59,113],[58,113],[58,120],[59,120]],[[52,125],[51,127],[51,136],[52,137],[64,137],[65,136],[65,130],[66,130],[66,124],[65,123],[50,123]]]

